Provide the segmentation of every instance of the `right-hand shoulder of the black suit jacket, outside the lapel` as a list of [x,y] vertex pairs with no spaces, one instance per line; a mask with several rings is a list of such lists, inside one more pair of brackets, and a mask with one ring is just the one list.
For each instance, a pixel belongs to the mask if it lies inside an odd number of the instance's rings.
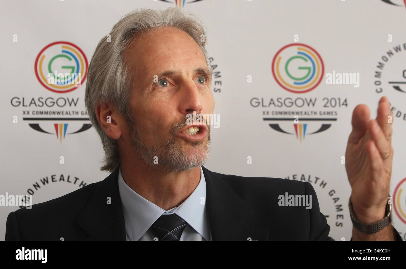
[[[270,240],[331,240],[328,237],[330,226],[320,212],[317,195],[310,182],[212,173],[251,205],[254,226],[278,231],[272,234]],[[286,204],[287,197],[291,199],[291,196],[295,197],[295,201],[296,197],[300,197],[301,203],[297,206]]]

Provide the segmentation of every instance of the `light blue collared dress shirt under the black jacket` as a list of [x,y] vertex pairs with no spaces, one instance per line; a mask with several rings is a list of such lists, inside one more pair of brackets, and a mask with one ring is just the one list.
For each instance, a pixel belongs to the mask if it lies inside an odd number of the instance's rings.
[[118,183],[127,241],[153,241],[152,224],[161,215],[169,213],[176,213],[187,223],[180,241],[212,241],[206,213],[206,181],[201,167],[196,189],[182,204],[167,211],[131,189],[124,181],[121,166]]

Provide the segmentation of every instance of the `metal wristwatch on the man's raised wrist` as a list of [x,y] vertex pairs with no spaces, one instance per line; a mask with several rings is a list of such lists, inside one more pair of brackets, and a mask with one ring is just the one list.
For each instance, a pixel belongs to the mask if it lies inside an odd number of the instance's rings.
[[[389,195],[389,197],[391,197],[391,195]],[[374,234],[376,232],[379,232],[392,222],[392,204],[387,204],[385,217],[382,220],[371,224],[366,224],[358,221],[354,213],[354,209],[352,208],[351,195],[350,199],[348,200],[348,207],[350,208],[350,217],[352,224],[358,231],[364,234]]]

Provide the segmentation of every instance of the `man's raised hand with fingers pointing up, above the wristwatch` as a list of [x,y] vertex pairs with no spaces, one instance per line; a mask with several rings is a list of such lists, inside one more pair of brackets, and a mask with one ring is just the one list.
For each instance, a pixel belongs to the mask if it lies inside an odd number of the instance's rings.
[[[352,116],[353,130],[346,149],[346,170],[352,188],[352,202],[362,210],[386,206],[392,170],[393,117],[387,98],[380,100],[378,116],[370,120],[366,105],[358,105]],[[389,154],[389,156],[388,156]]]

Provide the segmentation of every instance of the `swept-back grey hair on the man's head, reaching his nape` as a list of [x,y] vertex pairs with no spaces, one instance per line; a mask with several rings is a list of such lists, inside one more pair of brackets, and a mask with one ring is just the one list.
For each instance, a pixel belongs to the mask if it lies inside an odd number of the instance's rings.
[[[176,7],[164,11],[138,9],[117,22],[113,26],[110,36],[107,36],[111,37],[111,41],[103,37],[96,47],[87,70],[84,94],[90,121],[102,140],[105,152],[104,164],[100,167],[102,171],[110,173],[114,171],[120,164],[120,156],[117,141],[108,137],[97,121],[95,105],[110,102],[123,115],[128,124],[134,122],[129,107],[134,75],[128,72],[130,67],[125,62],[125,49],[137,33],[162,27],[175,27],[188,33],[201,48],[210,73],[213,72],[205,49],[207,42],[205,27],[199,17],[183,13]],[[204,42],[201,42],[202,37]]]

